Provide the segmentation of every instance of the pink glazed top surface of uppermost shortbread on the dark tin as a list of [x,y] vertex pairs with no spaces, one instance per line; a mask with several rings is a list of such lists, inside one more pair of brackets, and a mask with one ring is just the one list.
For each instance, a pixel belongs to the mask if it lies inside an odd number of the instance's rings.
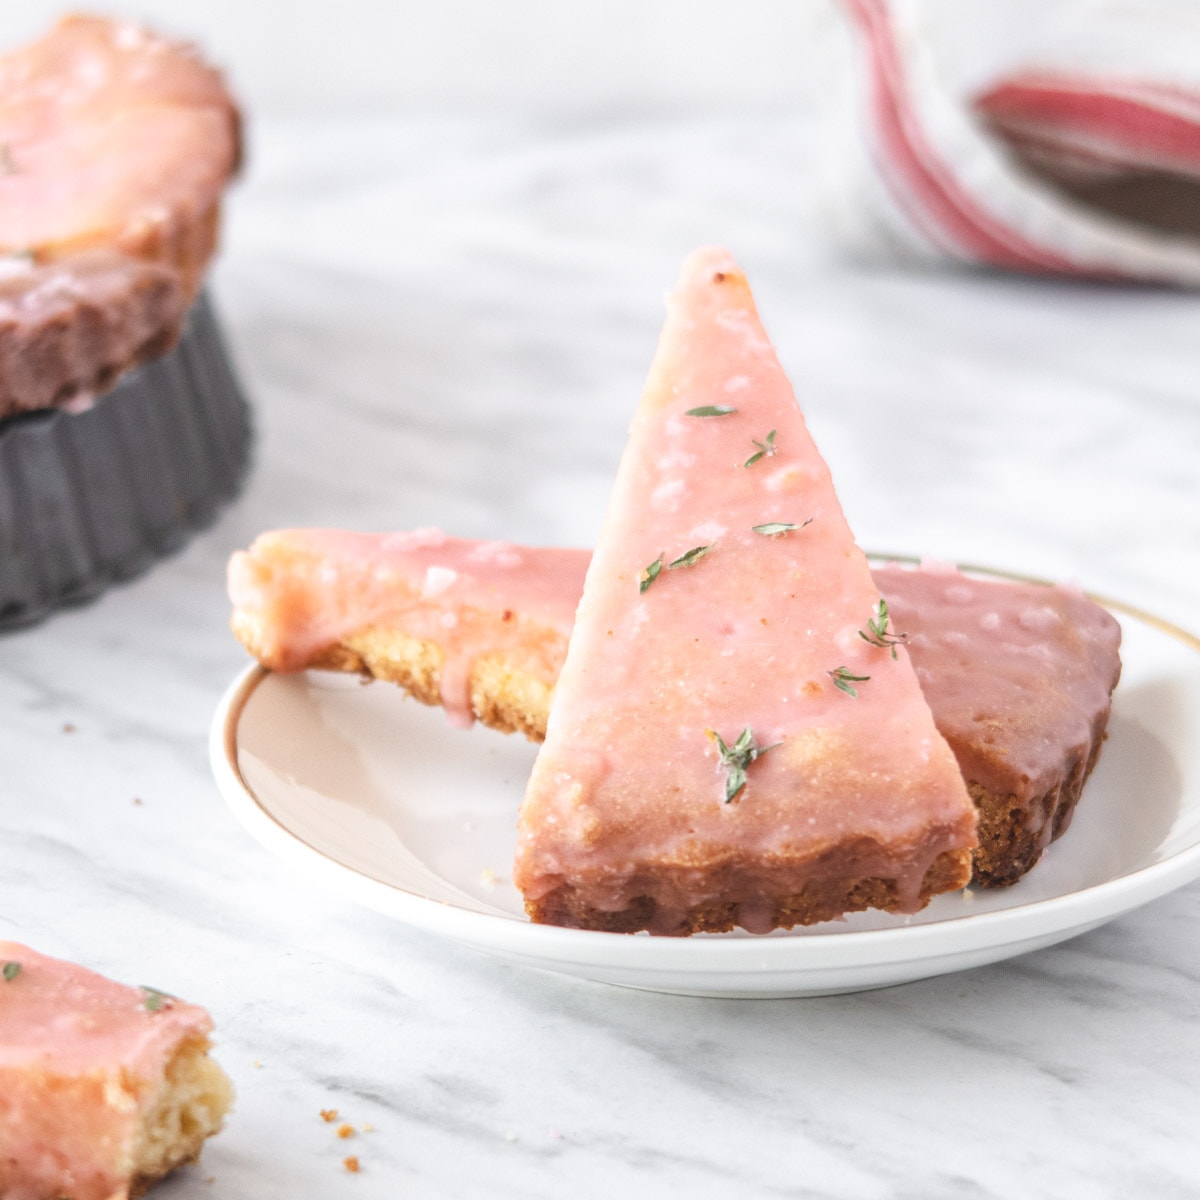
[[67,17],[0,59],[0,253],[140,254],[211,209],[238,158],[220,76],[136,25]]

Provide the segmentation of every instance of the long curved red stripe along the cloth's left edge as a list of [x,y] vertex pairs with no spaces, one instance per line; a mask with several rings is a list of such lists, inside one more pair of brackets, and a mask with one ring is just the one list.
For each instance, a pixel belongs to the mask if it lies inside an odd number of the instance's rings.
[[[895,202],[918,228],[929,220],[980,262],[1012,270],[1114,278],[1039,246],[986,212],[958,182],[925,139],[913,110],[886,0],[842,0],[863,34],[871,86],[871,118],[886,162],[880,163]],[[894,186],[892,173],[904,180]],[[912,210],[913,202],[922,205]]]

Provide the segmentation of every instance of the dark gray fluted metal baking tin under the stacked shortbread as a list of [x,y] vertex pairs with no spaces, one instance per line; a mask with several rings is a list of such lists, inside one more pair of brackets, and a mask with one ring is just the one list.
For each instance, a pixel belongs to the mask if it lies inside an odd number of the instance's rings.
[[250,464],[250,409],[211,305],[84,412],[0,422],[0,630],[140,574],[209,524]]

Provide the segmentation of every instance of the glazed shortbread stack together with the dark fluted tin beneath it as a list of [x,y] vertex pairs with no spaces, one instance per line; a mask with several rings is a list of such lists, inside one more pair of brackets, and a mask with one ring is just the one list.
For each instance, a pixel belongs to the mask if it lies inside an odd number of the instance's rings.
[[138,25],[67,17],[0,56],[0,630],[240,486],[248,412],[200,294],[240,146],[220,73]]

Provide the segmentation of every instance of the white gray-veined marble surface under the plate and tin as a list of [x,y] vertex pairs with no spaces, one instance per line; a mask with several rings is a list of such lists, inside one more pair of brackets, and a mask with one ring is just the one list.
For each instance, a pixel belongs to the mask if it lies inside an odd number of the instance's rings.
[[926,983],[689,1000],[322,894],[212,784],[227,556],[292,524],[587,542],[704,241],[750,274],[865,546],[1200,625],[1200,301],[858,270],[815,139],[762,113],[253,127],[215,277],[253,476],[143,578],[0,637],[0,934],[206,1004],[238,1086],[163,1200],[1200,1193],[1200,886]]

